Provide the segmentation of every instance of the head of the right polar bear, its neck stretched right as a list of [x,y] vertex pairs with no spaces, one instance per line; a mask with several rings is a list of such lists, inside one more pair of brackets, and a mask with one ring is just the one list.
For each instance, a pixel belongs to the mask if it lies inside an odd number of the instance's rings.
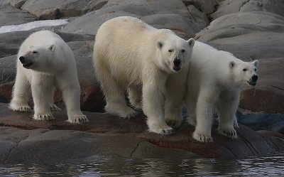
[[254,60],[251,63],[231,61],[229,68],[232,70],[236,84],[255,86],[258,81],[258,64],[258,60]]

